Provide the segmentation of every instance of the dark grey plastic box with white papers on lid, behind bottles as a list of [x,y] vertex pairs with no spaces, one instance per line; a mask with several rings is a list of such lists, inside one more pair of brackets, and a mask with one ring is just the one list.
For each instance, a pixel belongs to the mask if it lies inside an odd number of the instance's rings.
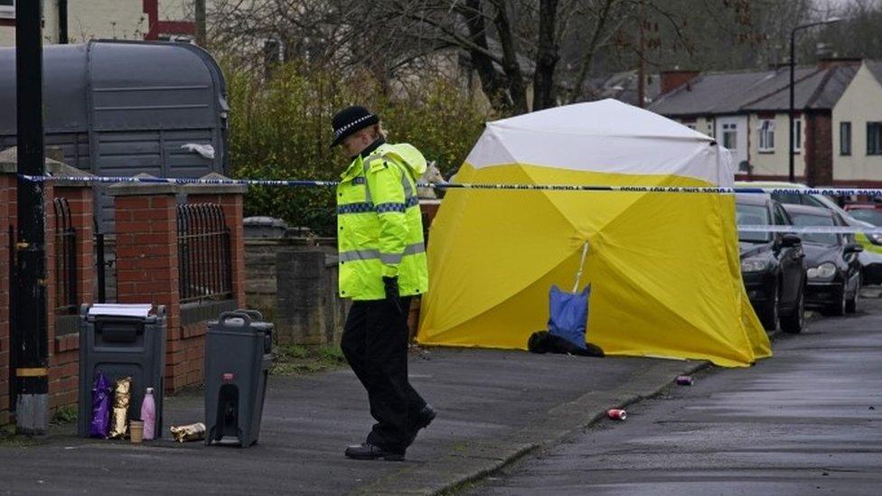
[[[108,376],[111,385],[131,377],[132,396],[128,418],[141,416],[146,388],[154,388],[156,437],[163,433],[163,392],[165,386],[165,307],[141,317],[89,315],[89,305],[80,309],[80,412],[77,433],[89,437],[92,421],[92,388],[97,372]],[[113,394],[110,396],[111,407]],[[112,409],[111,409],[112,411]]]

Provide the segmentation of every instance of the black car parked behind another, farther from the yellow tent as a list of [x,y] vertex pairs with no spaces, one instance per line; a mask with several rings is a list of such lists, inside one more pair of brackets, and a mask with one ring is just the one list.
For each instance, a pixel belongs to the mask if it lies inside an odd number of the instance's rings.
[[[834,211],[804,205],[784,205],[784,209],[794,226],[848,226]],[[805,303],[834,315],[855,312],[860,293],[858,254],[863,248],[851,234],[821,232],[800,237],[809,279]]]

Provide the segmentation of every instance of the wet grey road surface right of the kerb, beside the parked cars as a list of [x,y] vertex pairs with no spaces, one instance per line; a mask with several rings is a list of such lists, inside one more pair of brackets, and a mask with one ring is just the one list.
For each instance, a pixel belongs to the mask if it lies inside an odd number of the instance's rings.
[[749,370],[699,372],[466,492],[879,494],[882,299],[781,335],[774,353]]

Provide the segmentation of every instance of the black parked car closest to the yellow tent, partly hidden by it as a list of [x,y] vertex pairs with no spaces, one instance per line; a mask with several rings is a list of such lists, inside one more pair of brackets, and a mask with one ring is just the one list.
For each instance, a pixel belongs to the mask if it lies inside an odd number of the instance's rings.
[[[781,203],[765,194],[736,195],[740,226],[790,226]],[[793,234],[738,231],[741,276],[747,296],[765,329],[778,323],[784,332],[802,331],[805,265],[802,240]]]

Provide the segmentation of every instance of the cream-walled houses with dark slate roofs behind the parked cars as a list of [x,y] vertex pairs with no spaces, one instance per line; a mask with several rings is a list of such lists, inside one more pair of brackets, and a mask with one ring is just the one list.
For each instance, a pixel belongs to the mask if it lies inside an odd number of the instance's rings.
[[[795,70],[794,175],[813,185],[882,185],[882,62],[823,60]],[[738,179],[789,176],[788,66],[662,73],[649,107],[718,139]]]

